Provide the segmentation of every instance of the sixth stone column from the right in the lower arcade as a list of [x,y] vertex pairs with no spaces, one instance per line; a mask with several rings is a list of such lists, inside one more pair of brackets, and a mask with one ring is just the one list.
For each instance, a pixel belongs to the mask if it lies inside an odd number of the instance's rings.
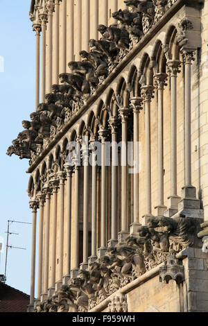
[[127,209],[128,209],[128,162],[127,162],[127,151],[128,151],[128,115],[130,114],[129,108],[120,108],[119,115],[121,117],[121,128],[122,128],[122,145],[121,145],[121,232],[119,232],[119,243],[123,243],[128,237],[128,221],[127,221]]

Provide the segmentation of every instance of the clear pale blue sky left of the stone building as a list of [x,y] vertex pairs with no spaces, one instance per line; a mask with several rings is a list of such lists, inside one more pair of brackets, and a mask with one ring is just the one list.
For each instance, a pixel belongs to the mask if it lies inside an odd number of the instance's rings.
[[[31,223],[28,207],[28,160],[19,160],[6,151],[12,139],[23,130],[21,121],[29,120],[35,108],[35,33],[31,28],[28,11],[30,0],[0,0],[0,56],[4,71],[0,72],[1,108],[1,220],[0,238],[3,239],[0,273],[4,273],[6,230],[8,219]],[[12,223],[11,246],[26,250],[8,250],[7,284],[30,292],[31,225]],[[1,241],[0,241],[1,242]]]

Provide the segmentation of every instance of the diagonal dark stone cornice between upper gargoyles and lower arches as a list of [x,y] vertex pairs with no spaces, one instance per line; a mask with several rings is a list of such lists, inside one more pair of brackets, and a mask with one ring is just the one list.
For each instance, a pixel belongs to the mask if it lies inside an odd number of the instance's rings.
[[92,94],[92,96],[90,96],[90,98],[87,100],[87,103],[85,103],[85,105],[83,105],[83,107],[80,108],[80,110],[78,110],[78,112],[76,112],[73,117],[71,117],[70,121],[68,121],[64,125],[62,130],[57,135],[55,135],[54,139],[49,143],[47,148],[45,148],[44,151],[40,153],[40,155],[37,157],[37,160],[35,160],[35,162],[31,164],[26,173],[32,173],[36,169],[36,167],[40,164],[40,162],[42,162],[44,157],[46,157],[46,155],[51,151],[55,144],[57,144],[58,141],[60,141],[60,139],[62,139],[62,137],[66,134],[69,128],[71,128],[71,126],[73,126],[74,123],[76,123],[76,121],[78,121],[78,119],[80,119],[80,117],[85,114],[89,107],[99,98],[99,96],[101,96],[101,94],[103,94],[103,92],[105,91],[105,89],[107,89],[110,83],[112,83],[112,81],[117,76],[119,76],[121,71],[133,60],[133,58],[135,58],[135,56],[144,48],[144,46],[146,46],[146,44],[148,44],[148,42],[153,39],[153,37],[161,30],[161,28],[163,28],[164,25],[175,15],[175,13],[186,5],[189,7],[192,6],[194,8],[197,8],[197,6],[200,7],[200,2],[198,0],[193,0],[190,3],[190,0],[177,0],[177,2],[173,4],[173,6],[164,14],[164,16],[159,19],[159,21],[155,25],[153,25],[151,30],[146,33],[144,37],[142,37],[142,39],[130,51],[130,53],[128,53],[125,58],[123,58],[119,65],[114,68],[112,73],[107,76],[103,84],[99,86],[98,89],[96,89],[96,91],[94,92],[94,94]]

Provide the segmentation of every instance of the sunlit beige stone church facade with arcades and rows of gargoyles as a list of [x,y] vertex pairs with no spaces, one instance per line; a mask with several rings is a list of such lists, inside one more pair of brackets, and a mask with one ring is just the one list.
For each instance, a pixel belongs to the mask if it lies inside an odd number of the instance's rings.
[[30,309],[207,311],[207,6],[31,2],[36,112],[8,148],[30,160]]

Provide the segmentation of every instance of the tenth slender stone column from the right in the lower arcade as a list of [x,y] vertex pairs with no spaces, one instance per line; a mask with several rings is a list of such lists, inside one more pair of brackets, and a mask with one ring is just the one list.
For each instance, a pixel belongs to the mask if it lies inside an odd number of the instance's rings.
[[88,267],[88,206],[89,206],[89,153],[88,153],[88,137],[83,138],[83,166],[84,166],[84,189],[83,189],[83,264],[82,269]]

